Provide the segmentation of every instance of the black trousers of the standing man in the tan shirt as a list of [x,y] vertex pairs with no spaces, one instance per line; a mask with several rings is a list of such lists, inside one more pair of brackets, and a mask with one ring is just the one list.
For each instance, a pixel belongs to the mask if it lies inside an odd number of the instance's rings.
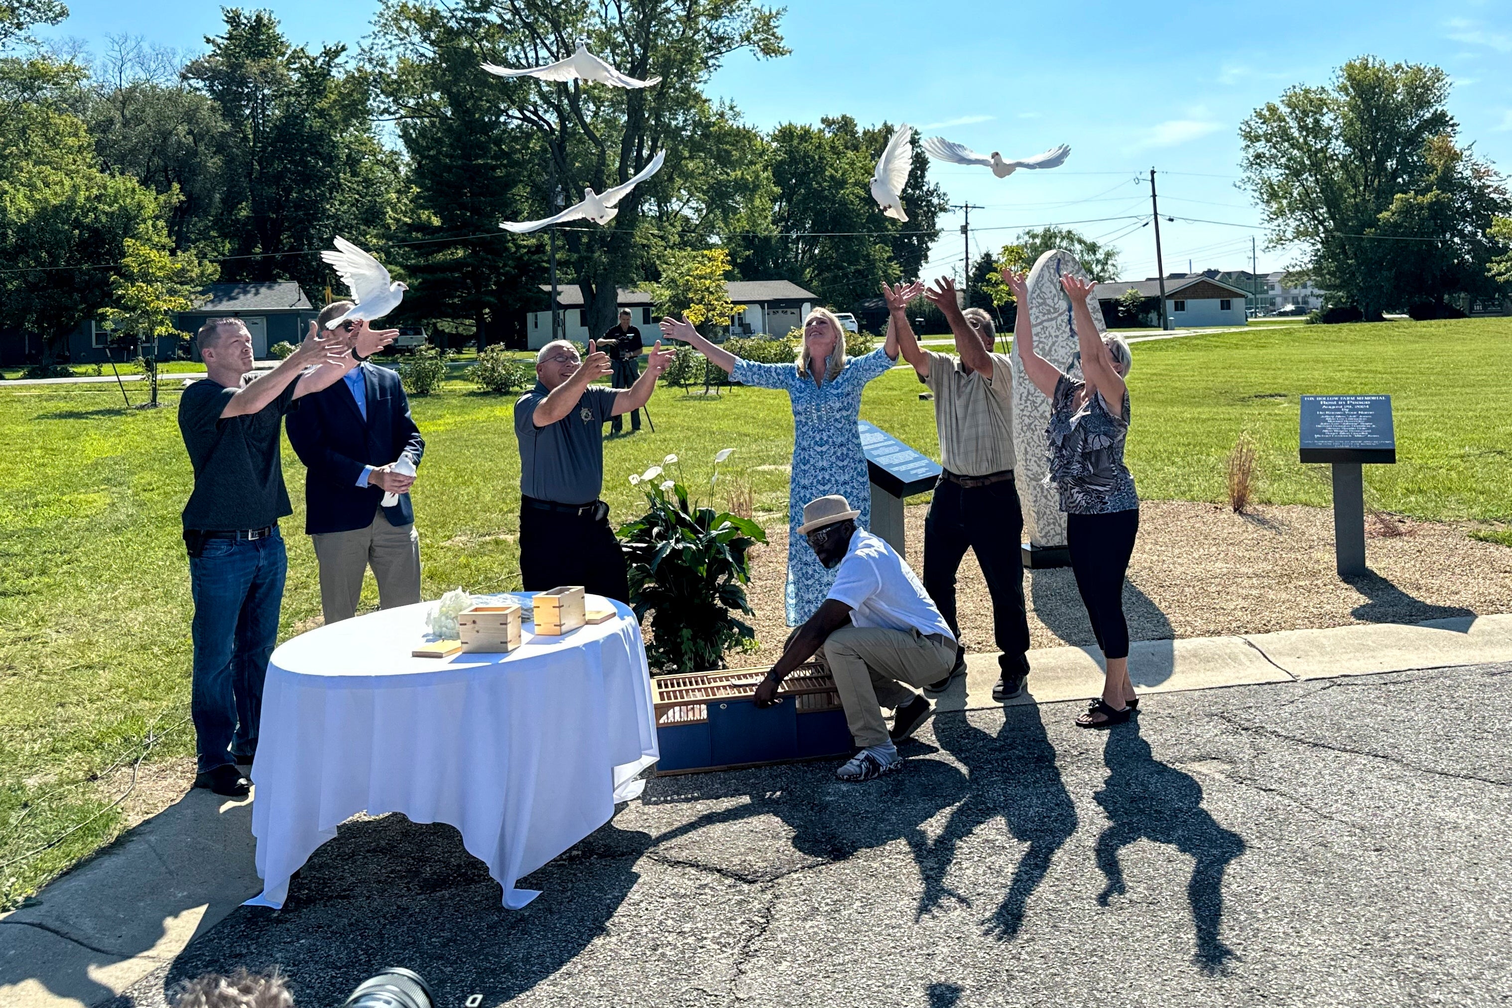
[[1012,479],[969,488],[942,479],[934,487],[924,520],[924,589],[959,641],[956,571],[966,550],[975,550],[992,595],[992,635],[1002,651],[998,665],[1010,674],[1030,671],[1024,656],[1030,650],[1030,621],[1024,611],[1022,535],[1024,512]]

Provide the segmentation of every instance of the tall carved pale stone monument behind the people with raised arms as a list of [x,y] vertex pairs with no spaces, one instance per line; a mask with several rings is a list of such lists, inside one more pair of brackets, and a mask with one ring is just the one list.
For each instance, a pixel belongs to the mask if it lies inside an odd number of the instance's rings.
[[[1030,325],[1034,326],[1034,349],[1063,372],[1070,372],[1077,352],[1077,332],[1070,320],[1070,299],[1060,286],[1064,275],[1087,277],[1077,257],[1051,249],[1039,257],[1030,271]],[[1102,308],[1095,296],[1087,296],[1087,308],[1098,332],[1107,332]],[[1049,397],[1034,387],[1024,373],[1019,345],[1013,343],[1013,450],[1018,456],[1019,503],[1024,508],[1024,532],[1030,538],[1025,567],[1064,567],[1066,515],[1049,475],[1049,453],[1045,429],[1049,426]]]

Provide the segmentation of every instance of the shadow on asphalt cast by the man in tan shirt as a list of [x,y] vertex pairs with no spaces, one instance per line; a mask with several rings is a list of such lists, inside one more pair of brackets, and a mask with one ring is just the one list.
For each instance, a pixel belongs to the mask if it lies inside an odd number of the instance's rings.
[[1013,869],[1002,902],[983,923],[989,934],[1013,940],[1024,925],[1028,899],[1045,880],[1055,851],[1077,831],[1077,807],[1061,781],[1040,709],[1004,709],[996,737],[957,713],[937,715],[933,725],[940,748],[966,766],[971,790],[950,813],[922,861],[924,895],[915,919],[945,896],[968,902],[947,889],[945,872],[956,860],[956,845],[1001,816],[1013,839],[1028,843],[1028,849]]

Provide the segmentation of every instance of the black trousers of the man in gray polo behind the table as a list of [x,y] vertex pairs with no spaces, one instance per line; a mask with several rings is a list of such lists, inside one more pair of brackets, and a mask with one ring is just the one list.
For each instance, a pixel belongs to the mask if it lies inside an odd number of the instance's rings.
[[629,604],[624,553],[609,520],[520,505],[520,577],[525,591],[582,585]]

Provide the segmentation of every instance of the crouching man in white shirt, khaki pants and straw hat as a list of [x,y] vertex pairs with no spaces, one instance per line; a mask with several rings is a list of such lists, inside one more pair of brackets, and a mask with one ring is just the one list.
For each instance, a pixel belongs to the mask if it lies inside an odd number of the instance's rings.
[[[956,638],[924,585],[891,546],[856,527],[859,514],[838,494],[803,506],[798,532],[824,567],[839,571],[824,604],[788,638],[782,657],[756,688],[756,706],[771,706],[783,677],[823,648],[851,739],[860,748],[835,772],[850,781],[881,777],[903,765],[895,744],[930,716],[930,701],[909,686],[937,682],[956,663]],[[883,707],[894,709],[892,731]]]

